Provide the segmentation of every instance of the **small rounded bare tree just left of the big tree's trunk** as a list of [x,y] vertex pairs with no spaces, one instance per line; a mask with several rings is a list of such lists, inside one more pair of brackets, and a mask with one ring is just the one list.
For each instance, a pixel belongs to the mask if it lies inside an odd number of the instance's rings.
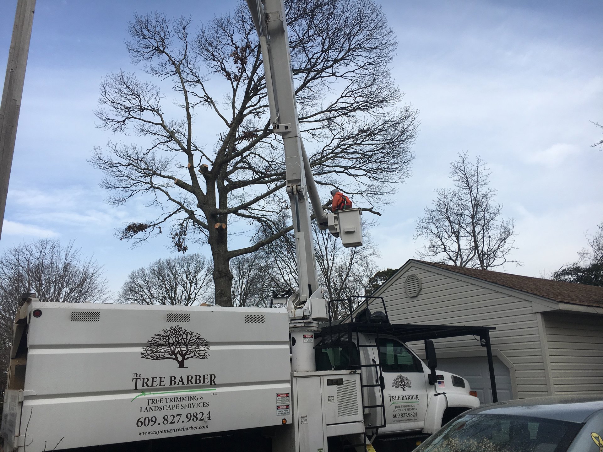
[[211,262],[202,254],[185,254],[130,272],[119,299],[122,303],[191,306],[207,301],[212,289]]

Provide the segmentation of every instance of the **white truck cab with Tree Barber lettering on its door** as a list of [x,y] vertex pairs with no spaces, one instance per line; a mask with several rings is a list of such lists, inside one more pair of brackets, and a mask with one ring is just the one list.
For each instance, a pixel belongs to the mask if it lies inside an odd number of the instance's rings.
[[[391,324],[387,314],[378,314],[352,315],[336,325],[330,322],[315,345],[317,371],[347,369],[361,374],[364,421],[371,443],[389,439],[393,444],[394,439],[408,437],[416,445],[459,413],[479,406],[467,380],[435,372],[405,344],[400,332],[411,330],[412,325]],[[381,321],[359,321],[371,316]],[[433,345],[426,348],[433,350]],[[435,356],[426,354],[433,365]]]

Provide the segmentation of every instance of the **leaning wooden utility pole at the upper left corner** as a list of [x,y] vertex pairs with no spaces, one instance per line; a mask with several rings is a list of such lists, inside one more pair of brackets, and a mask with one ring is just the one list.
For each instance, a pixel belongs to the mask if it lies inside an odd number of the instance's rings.
[[36,0],[17,0],[13,37],[8,51],[2,104],[0,104],[0,235],[4,223],[10,169],[13,165],[14,142],[17,137],[17,123],[21,110],[25,67],[30,51],[31,25],[34,22],[35,9]]

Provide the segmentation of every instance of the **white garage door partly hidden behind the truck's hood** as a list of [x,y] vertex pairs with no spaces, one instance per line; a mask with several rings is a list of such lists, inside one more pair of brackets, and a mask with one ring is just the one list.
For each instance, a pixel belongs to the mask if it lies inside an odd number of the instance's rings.
[[[494,361],[494,377],[496,378],[496,393],[498,401],[511,400],[511,374],[509,368],[496,356]],[[488,372],[488,359],[485,357],[468,358],[438,358],[438,370],[451,372],[469,381],[472,391],[478,392],[481,403],[492,403],[492,390],[490,386],[490,373]]]

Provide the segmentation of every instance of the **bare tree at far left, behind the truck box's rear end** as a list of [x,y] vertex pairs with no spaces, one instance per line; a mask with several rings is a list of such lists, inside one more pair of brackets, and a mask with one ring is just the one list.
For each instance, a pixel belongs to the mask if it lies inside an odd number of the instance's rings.
[[103,268],[73,242],[42,239],[9,248],[0,257],[0,369],[4,383],[13,322],[21,294],[51,303],[103,303],[110,298]]

